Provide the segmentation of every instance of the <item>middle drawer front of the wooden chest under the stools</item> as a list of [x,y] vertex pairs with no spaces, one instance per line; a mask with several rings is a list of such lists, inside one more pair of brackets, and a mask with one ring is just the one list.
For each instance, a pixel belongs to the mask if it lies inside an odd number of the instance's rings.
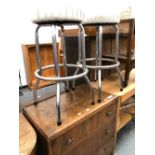
[[[114,133],[114,125],[109,124],[106,128],[102,126],[63,155],[96,155],[96,152],[104,146],[108,140],[114,140]],[[105,149],[107,152],[111,151],[111,148],[108,146],[106,146]]]

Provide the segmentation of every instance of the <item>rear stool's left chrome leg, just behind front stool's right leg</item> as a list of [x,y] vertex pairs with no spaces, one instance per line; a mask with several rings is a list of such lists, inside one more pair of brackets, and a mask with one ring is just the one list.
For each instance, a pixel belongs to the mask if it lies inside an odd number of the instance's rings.
[[[77,63],[81,63],[81,31],[79,32],[78,35],[78,62]],[[79,68],[76,68],[74,75],[78,74],[79,72]],[[75,80],[72,81],[72,89],[75,89]]]

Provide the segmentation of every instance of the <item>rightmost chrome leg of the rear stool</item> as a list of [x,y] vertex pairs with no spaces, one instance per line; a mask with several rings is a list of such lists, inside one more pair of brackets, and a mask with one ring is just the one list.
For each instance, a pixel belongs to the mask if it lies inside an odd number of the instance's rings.
[[[118,52],[119,52],[119,27],[118,25],[115,25],[116,28],[116,55],[115,55],[115,62],[118,62]],[[119,67],[116,68],[117,69],[117,73],[120,79],[120,91],[123,91],[123,78],[120,72]]]

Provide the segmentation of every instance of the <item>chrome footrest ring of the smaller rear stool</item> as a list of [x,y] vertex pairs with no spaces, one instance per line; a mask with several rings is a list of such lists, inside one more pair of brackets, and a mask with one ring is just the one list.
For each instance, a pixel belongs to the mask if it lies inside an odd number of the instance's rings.
[[[94,61],[96,60],[96,58],[87,58],[85,59],[85,61]],[[94,66],[94,65],[86,65],[87,68],[89,69],[112,69],[112,68],[116,68],[120,65],[119,61],[115,61],[113,59],[108,59],[108,58],[98,58],[97,60],[101,60],[101,61],[107,61],[107,62],[114,62],[115,64],[112,65],[102,65],[102,66]]]

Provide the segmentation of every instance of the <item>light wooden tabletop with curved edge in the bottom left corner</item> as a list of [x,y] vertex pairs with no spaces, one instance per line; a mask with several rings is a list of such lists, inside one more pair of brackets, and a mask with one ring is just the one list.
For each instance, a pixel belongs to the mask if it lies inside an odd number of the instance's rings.
[[22,113],[19,114],[19,155],[29,155],[36,145],[37,136]]

